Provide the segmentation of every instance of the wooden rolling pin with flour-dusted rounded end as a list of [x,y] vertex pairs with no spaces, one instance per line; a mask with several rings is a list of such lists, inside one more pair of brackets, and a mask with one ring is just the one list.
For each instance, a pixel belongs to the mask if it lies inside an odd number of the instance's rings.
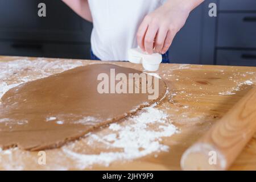
[[226,170],[256,132],[256,86],[184,152],[183,170]]

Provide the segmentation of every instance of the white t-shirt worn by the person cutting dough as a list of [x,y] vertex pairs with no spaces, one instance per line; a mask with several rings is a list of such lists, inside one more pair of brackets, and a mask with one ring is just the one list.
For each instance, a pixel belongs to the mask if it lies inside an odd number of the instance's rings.
[[93,18],[91,45],[101,60],[125,61],[138,46],[136,34],[147,14],[165,0],[88,0]]

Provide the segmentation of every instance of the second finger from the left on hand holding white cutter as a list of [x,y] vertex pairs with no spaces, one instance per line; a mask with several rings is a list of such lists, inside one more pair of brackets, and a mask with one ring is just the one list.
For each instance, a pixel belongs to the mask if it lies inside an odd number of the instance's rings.
[[150,24],[147,28],[147,32],[144,38],[144,47],[147,53],[154,53],[154,40],[156,33],[158,32],[158,26],[156,24]]

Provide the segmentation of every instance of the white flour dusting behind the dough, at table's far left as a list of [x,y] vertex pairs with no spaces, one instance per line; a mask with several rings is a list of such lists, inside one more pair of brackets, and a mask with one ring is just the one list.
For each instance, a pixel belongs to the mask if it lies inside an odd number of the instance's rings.
[[[59,73],[79,67],[82,61],[59,60],[48,61],[43,58],[36,60],[17,59],[10,62],[0,62],[0,99],[9,89],[14,88],[24,82],[47,77],[53,73]],[[29,77],[22,75],[23,71],[31,69],[35,75]],[[9,84],[9,78],[15,77],[16,83]]]

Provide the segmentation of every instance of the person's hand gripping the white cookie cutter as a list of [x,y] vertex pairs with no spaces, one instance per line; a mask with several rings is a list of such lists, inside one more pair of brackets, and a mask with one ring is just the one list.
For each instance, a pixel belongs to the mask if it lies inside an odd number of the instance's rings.
[[191,0],[168,0],[148,14],[137,33],[139,47],[150,54],[166,53],[174,36],[184,26],[192,7]]

